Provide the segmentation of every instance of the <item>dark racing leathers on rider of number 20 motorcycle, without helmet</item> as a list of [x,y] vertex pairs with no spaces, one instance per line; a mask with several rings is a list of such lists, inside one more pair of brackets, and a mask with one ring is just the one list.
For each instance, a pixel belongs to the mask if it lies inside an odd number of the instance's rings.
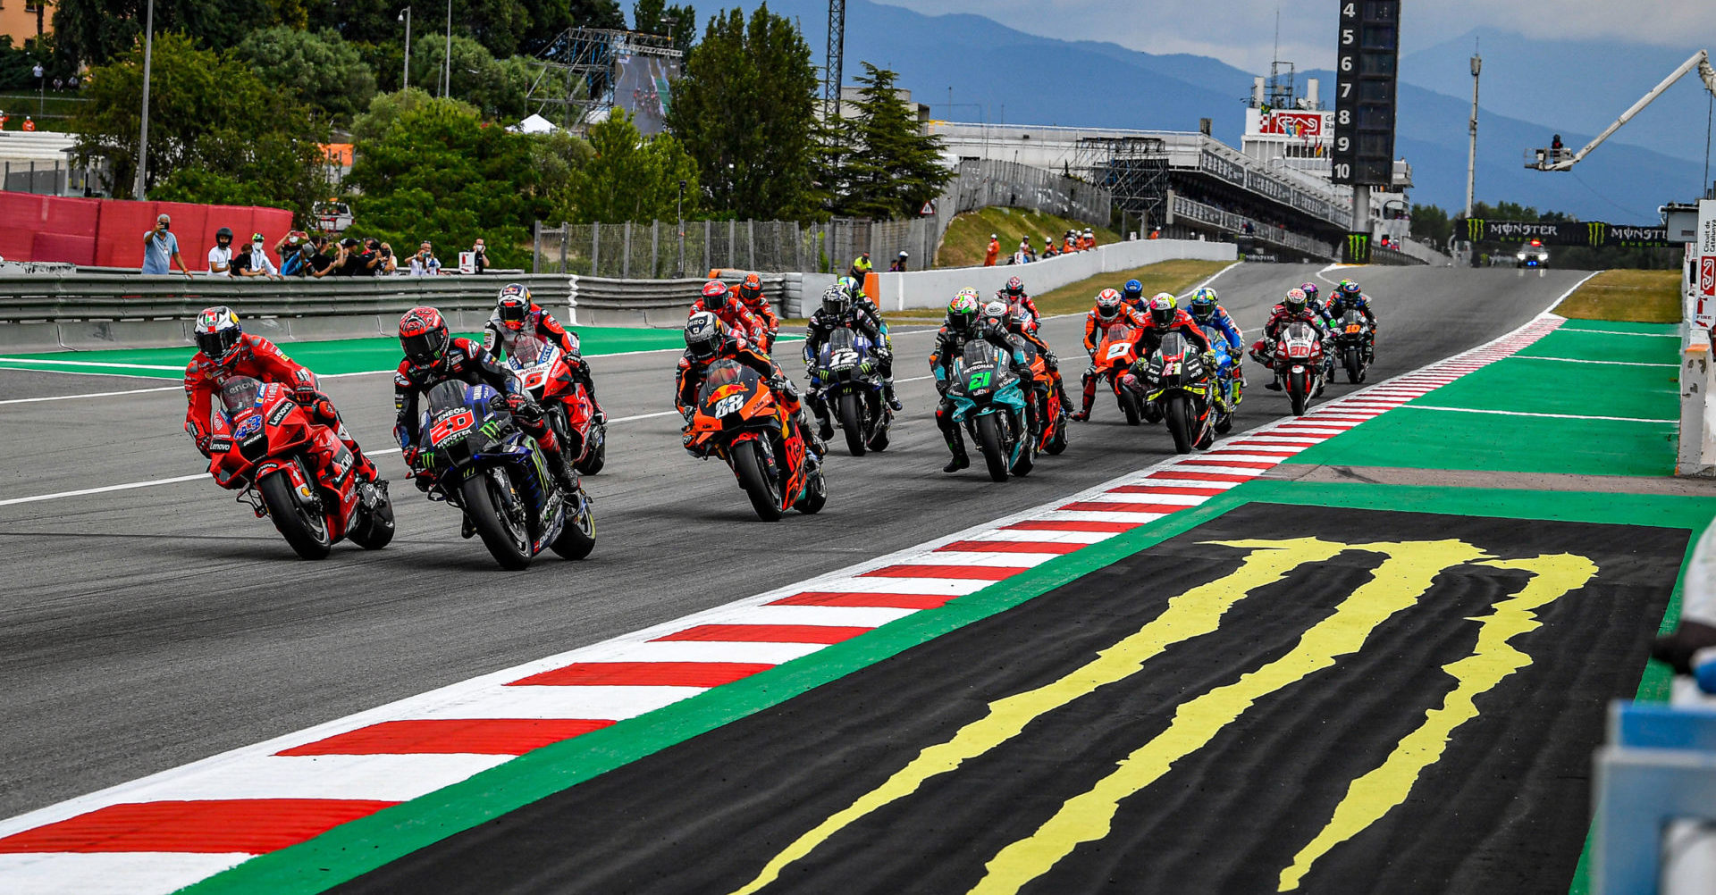
[[434,478],[427,473],[427,451],[417,442],[420,435],[417,403],[422,393],[448,379],[458,379],[472,386],[489,386],[505,394],[518,429],[542,446],[547,468],[556,482],[568,494],[577,490],[577,482],[571,478],[566,458],[559,451],[559,441],[554,439],[554,427],[547,423],[542,406],[530,399],[530,394],[523,391],[523,382],[503,367],[494,355],[463,336],[453,338],[448,343],[446,355],[441,360],[427,367],[419,367],[410,358],[405,358],[393,374],[393,410],[396,411],[393,434],[400,441],[405,465],[410,466],[419,489],[429,490]]

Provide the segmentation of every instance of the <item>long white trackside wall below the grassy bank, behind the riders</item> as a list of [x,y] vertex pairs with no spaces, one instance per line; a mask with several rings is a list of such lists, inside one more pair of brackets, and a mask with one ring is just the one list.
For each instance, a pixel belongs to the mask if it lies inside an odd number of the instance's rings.
[[1230,242],[1133,240],[1031,264],[870,274],[868,291],[884,310],[939,307],[966,286],[978,290],[980,295],[992,295],[1006,286],[1012,276],[1024,279],[1030,291],[1042,293],[1091,276],[1129,271],[1170,259],[1237,261],[1239,254]]

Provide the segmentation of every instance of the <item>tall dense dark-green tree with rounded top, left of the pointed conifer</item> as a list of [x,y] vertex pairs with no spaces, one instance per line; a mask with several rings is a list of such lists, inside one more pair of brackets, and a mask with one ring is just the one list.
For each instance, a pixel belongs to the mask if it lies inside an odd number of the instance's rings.
[[740,218],[808,219],[822,213],[812,185],[817,72],[791,21],[762,3],[714,15],[685,57],[668,130],[697,161],[709,207]]

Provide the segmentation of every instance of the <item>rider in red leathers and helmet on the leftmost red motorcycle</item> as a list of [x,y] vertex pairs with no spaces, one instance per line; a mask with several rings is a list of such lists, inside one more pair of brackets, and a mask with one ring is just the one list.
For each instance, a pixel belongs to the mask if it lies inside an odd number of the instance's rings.
[[185,363],[185,432],[197,442],[197,451],[209,456],[209,432],[214,413],[214,393],[233,375],[249,375],[259,382],[280,382],[292,389],[292,399],[312,420],[333,429],[348,451],[359,480],[374,482],[381,475],[364,456],[357,439],[340,420],[333,401],[321,393],[316,374],[295,363],[285,351],[263,336],[247,336],[232,309],[211,307],[197,314],[197,353]]

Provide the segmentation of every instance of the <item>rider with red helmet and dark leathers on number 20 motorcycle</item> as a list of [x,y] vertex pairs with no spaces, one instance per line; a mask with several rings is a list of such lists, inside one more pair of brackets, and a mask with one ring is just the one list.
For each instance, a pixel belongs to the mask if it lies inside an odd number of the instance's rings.
[[[410,466],[419,490],[429,490],[432,477],[427,475],[422,448],[417,444],[417,399],[424,391],[448,379],[458,379],[472,386],[489,386],[505,394],[506,408],[513,411],[518,429],[542,446],[554,482],[566,494],[577,494],[577,478],[566,466],[559,441],[554,439],[554,429],[547,425],[547,417],[542,413],[542,405],[530,399],[523,382],[494,360],[494,355],[463,336],[451,338],[441,312],[424,305],[414,307],[400,317],[400,348],[405,351],[405,360],[393,374],[393,408],[398,415],[393,434],[400,439],[405,465]],[[475,532],[470,516],[465,518],[465,530]]]

